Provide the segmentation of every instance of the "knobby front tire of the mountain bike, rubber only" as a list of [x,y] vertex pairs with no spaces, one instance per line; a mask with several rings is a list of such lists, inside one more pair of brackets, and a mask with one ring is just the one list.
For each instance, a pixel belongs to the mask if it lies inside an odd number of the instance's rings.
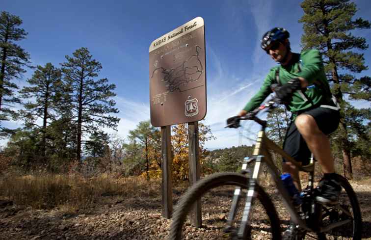
[[[206,192],[212,188],[220,186],[238,186],[247,188],[248,178],[242,174],[233,172],[215,173],[198,181],[194,186],[187,190],[185,195],[179,201],[174,212],[172,223],[170,225],[169,240],[180,240],[182,228],[186,216],[190,213],[193,203],[200,199]],[[263,205],[266,214],[270,220],[273,240],[281,240],[281,226],[278,214],[270,197],[263,188],[256,185],[256,198]]]

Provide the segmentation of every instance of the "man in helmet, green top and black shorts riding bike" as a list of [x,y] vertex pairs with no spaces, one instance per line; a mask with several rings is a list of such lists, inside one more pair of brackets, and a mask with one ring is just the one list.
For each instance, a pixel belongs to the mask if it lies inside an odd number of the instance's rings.
[[[239,127],[239,117],[250,111],[272,93],[291,111],[291,123],[287,129],[283,149],[295,160],[309,163],[311,152],[321,165],[323,178],[318,185],[316,200],[324,204],[336,204],[341,187],[336,179],[334,159],[326,134],[339,125],[339,105],[330,92],[318,50],[292,53],[290,34],[285,28],[275,27],[267,31],[261,40],[262,49],[279,63],[270,69],[258,93],[227,124]],[[298,169],[283,159],[283,172],[290,173],[295,186],[301,191]]]

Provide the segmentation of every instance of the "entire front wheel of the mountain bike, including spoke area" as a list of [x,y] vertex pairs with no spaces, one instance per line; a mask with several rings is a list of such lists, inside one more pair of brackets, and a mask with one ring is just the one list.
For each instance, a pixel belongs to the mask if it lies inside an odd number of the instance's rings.
[[[170,226],[170,240],[234,240],[245,205],[248,178],[238,173],[216,173],[197,182],[187,190],[179,201]],[[234,190],[240,187],[238,211],[232,231],[223,231],[231,207]],[[194,203],[201,203],[202,227],[195,228],[190,222]],[[249,214],[248,235],[251,240],[281,240],[280,221],[265,191],[256,185]]]

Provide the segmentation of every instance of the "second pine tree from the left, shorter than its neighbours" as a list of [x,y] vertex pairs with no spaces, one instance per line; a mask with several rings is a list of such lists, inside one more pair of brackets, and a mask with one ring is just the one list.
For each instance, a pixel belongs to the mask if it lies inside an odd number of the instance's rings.
[[[42,135],[40,150],[45,162],[47,126],[56,119],[57,97],[62,92],[61,71],[52,63],[47,63],[45,67],[37,66],[32,78],[27,82],[30,86],[24,87],[20,94],[22,99],[30,99],[30,101],[24,103],[25,109],[20,111],[20,116],[25,119],[28,129],[40,130]],[[42,126],[36,124],[38,119],[42,120]]]

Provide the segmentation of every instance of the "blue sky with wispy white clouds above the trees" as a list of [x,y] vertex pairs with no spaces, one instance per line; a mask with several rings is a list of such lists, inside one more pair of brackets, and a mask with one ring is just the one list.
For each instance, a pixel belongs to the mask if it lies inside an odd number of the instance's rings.
[[[371,2],[356,0],[356,17],[371,20]],[[226,118],[236,115],[262,84],[275,63],[260,49],[259,40],[272,27],[285,27],[293,52],[300,52],[303,15],[298,0],[2,0],[0,11],[20,16],[27,39],[18,42],[31,55],[33,65],[65,61],[65,55],[86,47],[103,69],[100,78],[116,84],[118,134],[125,137],[139,121],[149,120],[149,46],[163,34],[195,17],[205,21],[208,112],[216,140],[208,148],[250,144],[238,131],[224,129]],[[371,43],[371,31],[357,30]],[[365,52],[371,65],[370,50]],[[27,70],[22,87],[33,73]],[[362,75],[371,75],[365,71]],[[355,103],[366,107],[366,103]],[[10,122],[20,127],[22,122]],[[246,124],[256,132],[254,125]]]

